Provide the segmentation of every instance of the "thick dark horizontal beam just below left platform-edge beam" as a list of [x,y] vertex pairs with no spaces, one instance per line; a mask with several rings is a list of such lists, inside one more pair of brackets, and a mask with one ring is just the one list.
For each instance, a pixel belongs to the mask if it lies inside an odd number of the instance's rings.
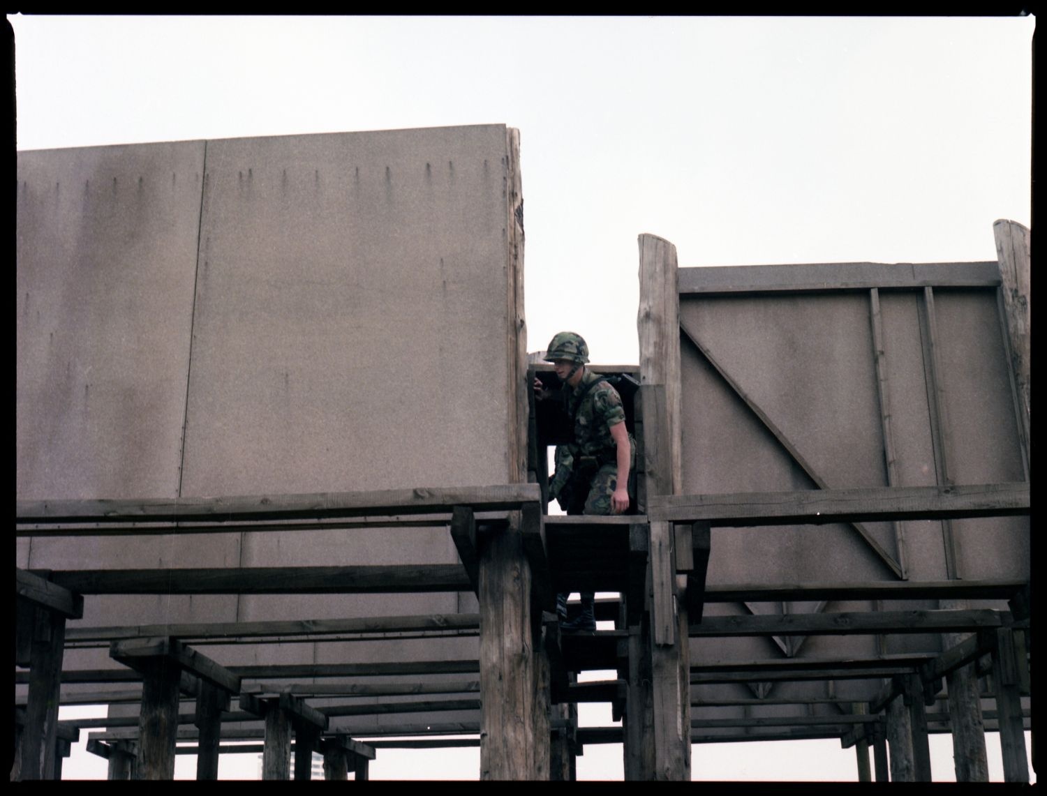
[[460,564],[52,572],[83,594],[382,594],[469,591]]

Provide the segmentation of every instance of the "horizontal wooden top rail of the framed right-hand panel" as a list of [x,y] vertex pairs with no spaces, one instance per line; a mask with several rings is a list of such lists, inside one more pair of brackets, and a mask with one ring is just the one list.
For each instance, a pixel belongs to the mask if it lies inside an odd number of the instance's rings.
[[993,288],[995,263],[816,263],[774,266],[709,266],[680,269],[680,293],[770,293],[870,290],[872,288]]

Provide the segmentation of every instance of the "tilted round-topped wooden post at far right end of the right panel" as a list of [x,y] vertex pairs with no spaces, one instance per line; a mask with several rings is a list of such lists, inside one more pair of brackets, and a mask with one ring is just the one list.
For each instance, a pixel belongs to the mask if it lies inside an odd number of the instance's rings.
[[1000,268],[1000,294],[1006,325],[1010,371],[1013,374],[1018,403],[1019,429],[1028,458],[1029,409],[1031,406],[1030,340],[1032,295],[1030,291],[1029,230],[1013,221],[999,220],[993,224],[996,254]]

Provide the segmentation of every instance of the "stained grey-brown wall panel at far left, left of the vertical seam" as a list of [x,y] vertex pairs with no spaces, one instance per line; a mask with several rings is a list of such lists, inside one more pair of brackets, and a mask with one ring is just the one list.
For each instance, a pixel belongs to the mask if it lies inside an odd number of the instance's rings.
[[203,151],[18,154],[20,500],[178,494]]

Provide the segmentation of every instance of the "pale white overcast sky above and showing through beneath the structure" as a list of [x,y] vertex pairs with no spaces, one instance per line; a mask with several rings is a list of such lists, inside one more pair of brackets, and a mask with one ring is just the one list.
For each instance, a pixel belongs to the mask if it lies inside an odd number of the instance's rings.
[[958,261],[1030,223],[1031,18],[7,19],[22,150],[518,128],[530,350],[637,362],[641,232],[682,267]]

